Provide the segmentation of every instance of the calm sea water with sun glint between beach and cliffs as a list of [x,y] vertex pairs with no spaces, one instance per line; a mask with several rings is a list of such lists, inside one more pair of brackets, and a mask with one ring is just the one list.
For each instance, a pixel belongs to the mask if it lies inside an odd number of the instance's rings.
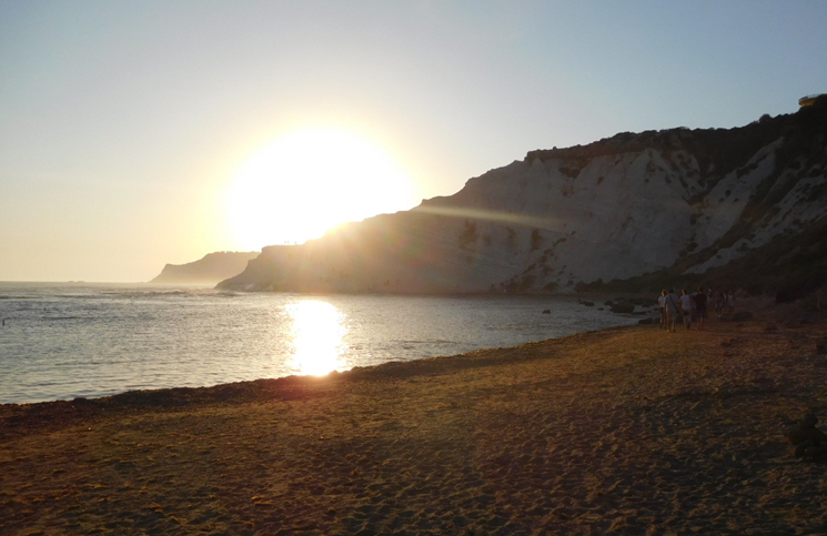
[[[552,314],[542,314],[543,310]],[[0,283],[0,403],[325,374],[634,324],[569,299]]]

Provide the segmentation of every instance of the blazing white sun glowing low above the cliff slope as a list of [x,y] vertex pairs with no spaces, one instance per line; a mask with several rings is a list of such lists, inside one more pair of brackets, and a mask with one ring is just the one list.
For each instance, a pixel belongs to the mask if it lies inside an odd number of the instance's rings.
[[413,181],[383,149],[336,129],[269,143],[241,166],[228,195],[233,237],[245,250],[303,243],[415,203]]

